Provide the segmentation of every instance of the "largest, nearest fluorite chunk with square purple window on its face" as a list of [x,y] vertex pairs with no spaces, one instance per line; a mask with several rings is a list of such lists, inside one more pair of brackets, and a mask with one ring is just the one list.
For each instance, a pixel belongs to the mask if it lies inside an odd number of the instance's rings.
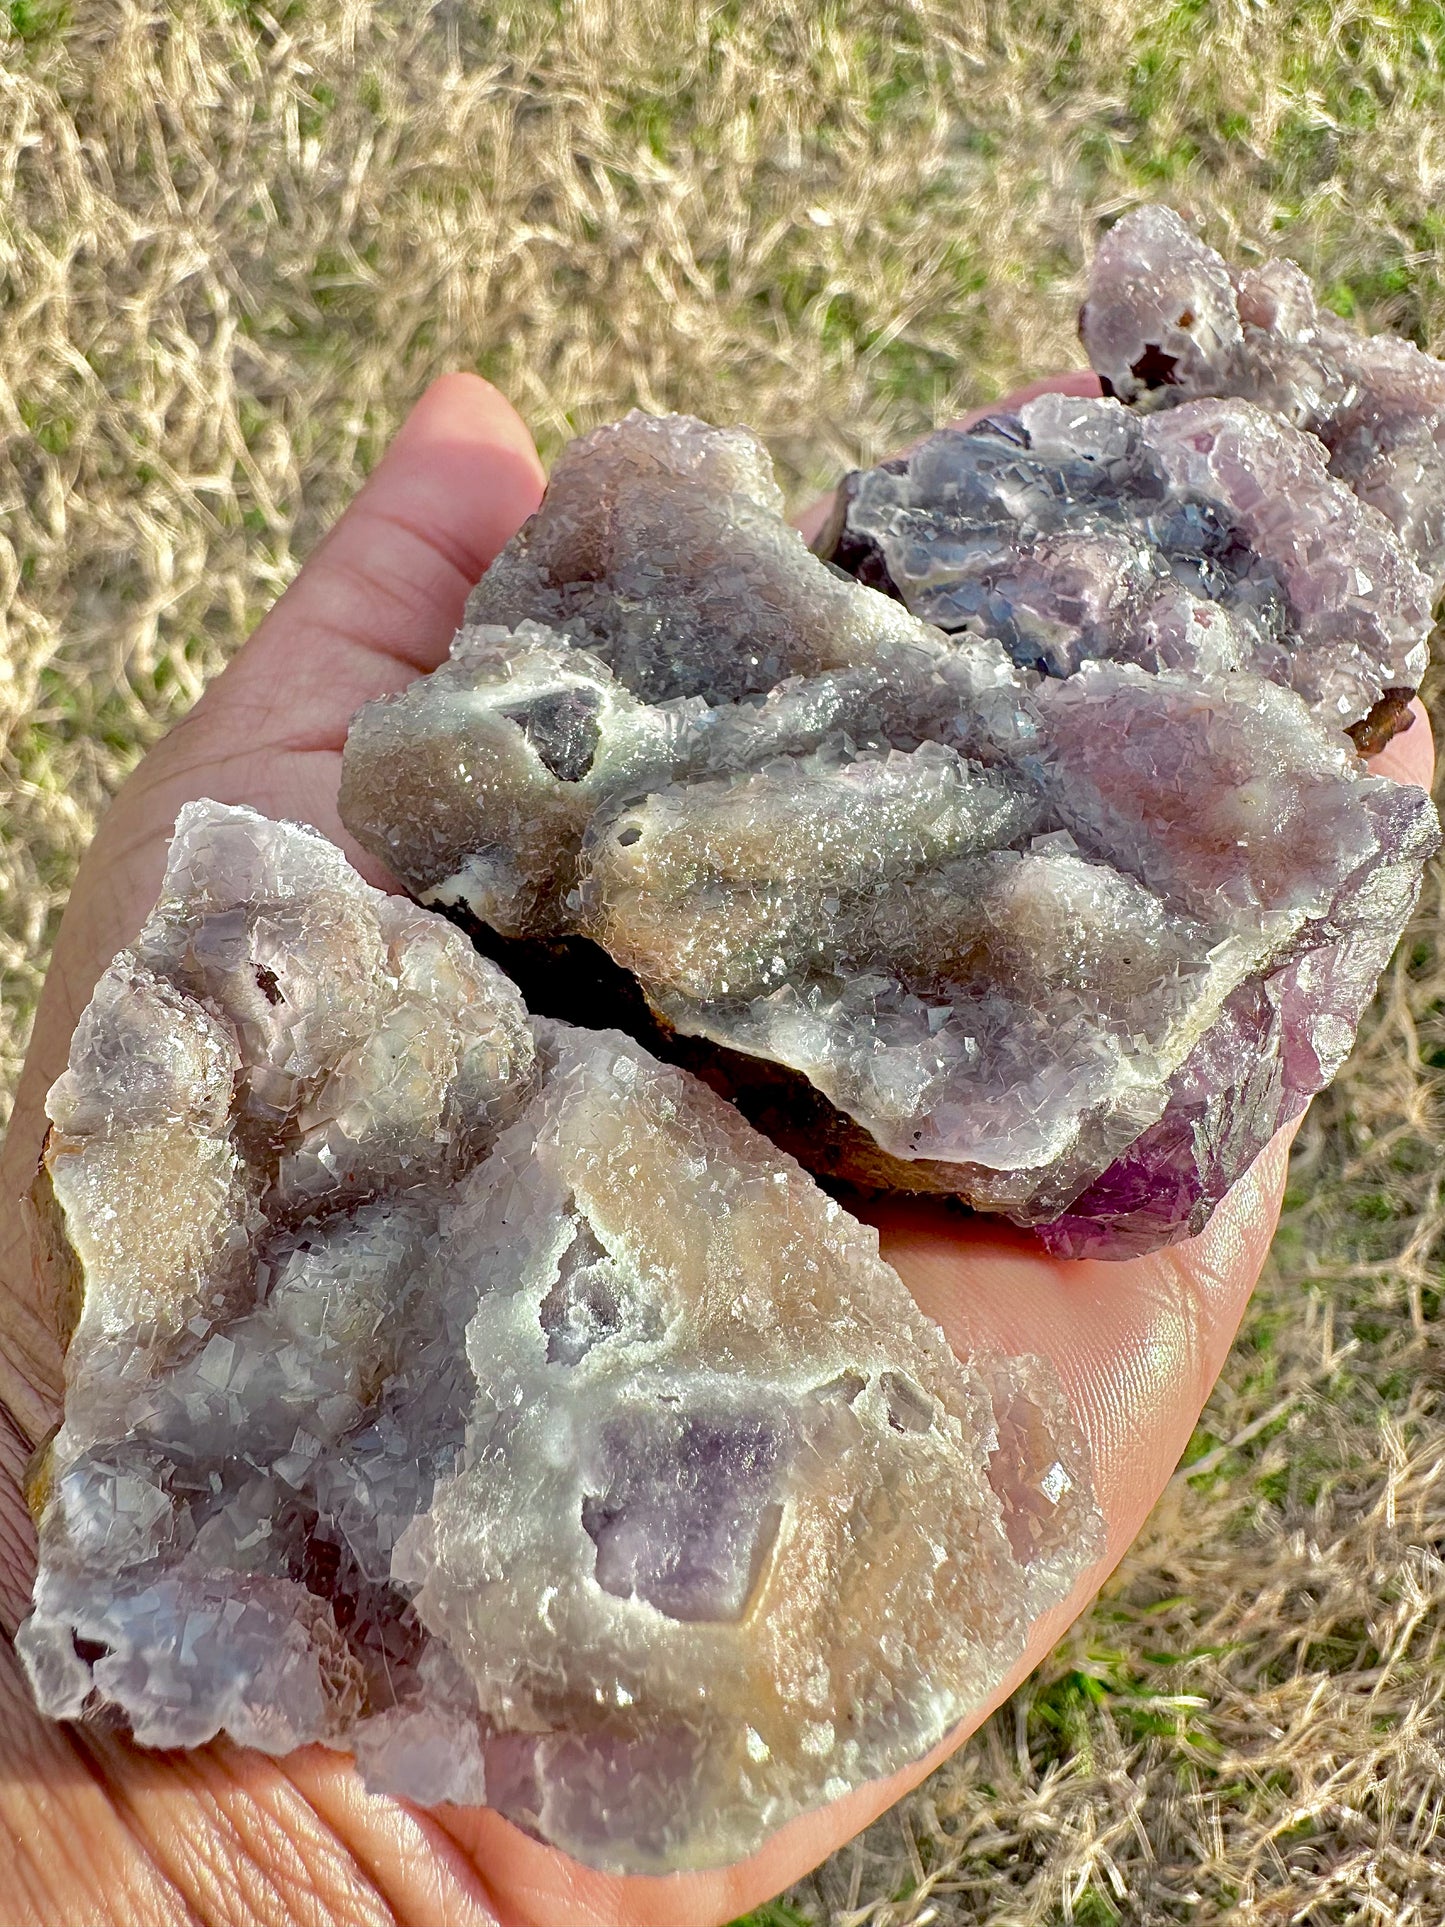
[[181,815],[50,1116],[56,1717],[713,1865],[931,1748],[1102,1551],[1048,1364],[959,1362],[736,1110],[314,832]]

